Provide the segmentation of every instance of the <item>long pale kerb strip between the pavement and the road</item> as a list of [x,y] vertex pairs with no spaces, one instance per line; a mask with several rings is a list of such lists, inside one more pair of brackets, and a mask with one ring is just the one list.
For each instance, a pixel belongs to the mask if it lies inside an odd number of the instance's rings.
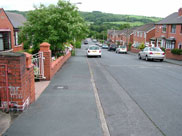
[[93,90],[94,90],[97,109],[99,111],[99,117],[100,117],[100,121],[101,121],[103,136],[110,136],[109,129],[108,129],[106,119],[105,119],[105,116],[104,116],[104,111],[103,111],[103,108],[102,108],[102,105],[101,105],[101,102],[100,102],[98,90],[96,88],[96,84],[95,84],[95,81],[94,81],[93,71],[91,69],[90,63],[88,62],[88,59],[87,59],[87,63],[88,63],[88,67],[89,67],[89,71],[90,71],[90,75],[91,75],[91,83],[92,83],[92,87],[93,87]]

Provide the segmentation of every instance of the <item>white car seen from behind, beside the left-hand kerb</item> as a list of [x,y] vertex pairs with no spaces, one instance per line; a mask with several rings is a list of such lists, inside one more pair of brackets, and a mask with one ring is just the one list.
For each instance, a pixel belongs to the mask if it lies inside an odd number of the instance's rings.
[[102,52],[101,52],[100,47],[98,47],[96,45],[90,45],[87,49],[86,54],[87,54],[87,57],[98,56],[101,58]]

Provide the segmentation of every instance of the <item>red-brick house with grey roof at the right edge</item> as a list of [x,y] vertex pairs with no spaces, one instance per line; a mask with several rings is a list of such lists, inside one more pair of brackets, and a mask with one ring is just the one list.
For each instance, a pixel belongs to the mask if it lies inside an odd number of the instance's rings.
[[182,49],[182,8],[155,24],[155,37],[151,41],[157,47]]

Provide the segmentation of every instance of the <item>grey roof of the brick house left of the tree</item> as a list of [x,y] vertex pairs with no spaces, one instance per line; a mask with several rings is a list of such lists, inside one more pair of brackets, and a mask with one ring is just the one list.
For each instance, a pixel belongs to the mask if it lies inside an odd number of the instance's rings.
[[26,18],[21,14],[6,12],[6,15],[8,16],[14,28],[19,28],[26,22]]

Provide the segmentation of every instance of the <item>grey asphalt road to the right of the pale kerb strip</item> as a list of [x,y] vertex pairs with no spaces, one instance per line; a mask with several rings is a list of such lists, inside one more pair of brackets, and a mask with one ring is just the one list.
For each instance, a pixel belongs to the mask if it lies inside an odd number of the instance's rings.
[[107,50],[88,60],[111,135],[182,135],[181,66]]

